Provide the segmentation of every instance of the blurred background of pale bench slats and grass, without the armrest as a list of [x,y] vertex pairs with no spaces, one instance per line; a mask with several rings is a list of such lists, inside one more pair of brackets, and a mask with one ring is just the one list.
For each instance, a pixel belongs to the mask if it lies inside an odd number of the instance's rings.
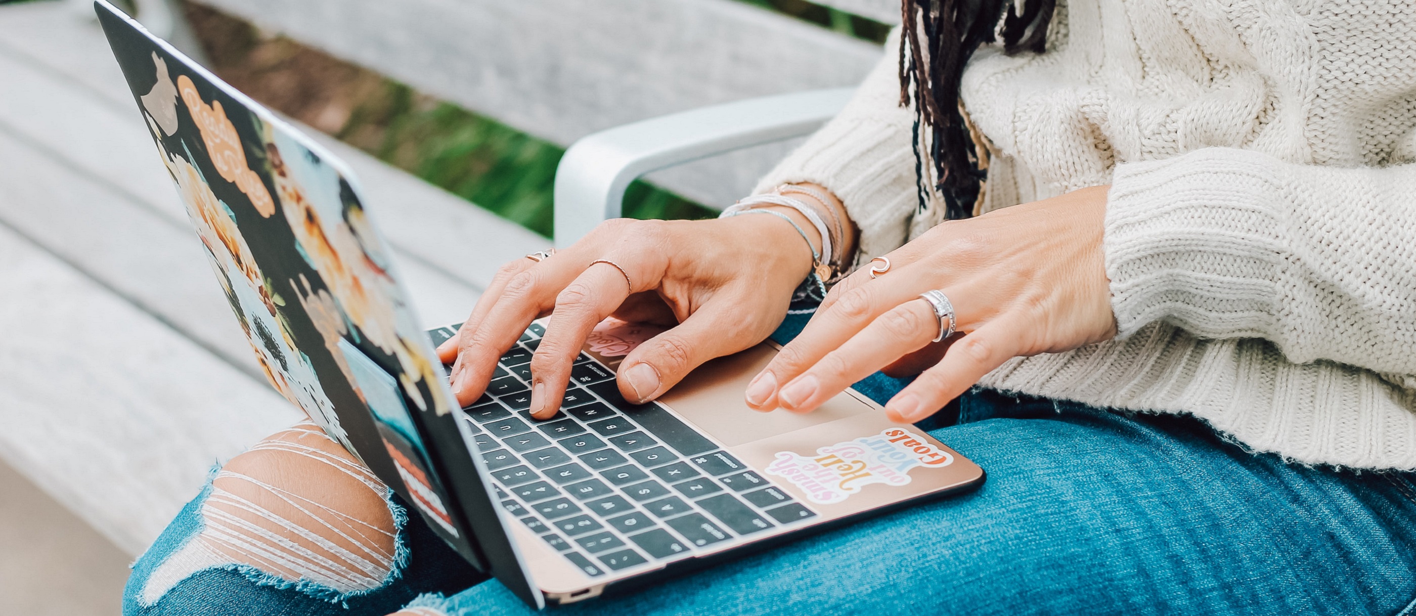
[[[358,173],[425,323],[549,245],[598,130],[851,86],[896,0],[132,0]],[[0,0],[0,613],[115,615],[212,464],[296,419],[265,384],[84,0]],[[800,143],[636,181],[716,215]]]

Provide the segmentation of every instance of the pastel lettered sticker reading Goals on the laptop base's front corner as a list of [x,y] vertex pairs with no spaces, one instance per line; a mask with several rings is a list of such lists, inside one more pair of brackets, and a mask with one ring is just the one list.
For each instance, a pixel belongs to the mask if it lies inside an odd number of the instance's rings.
[[776,474],[799,487],[816,504],[834,504],[857,494],[872,483],[903,486],[913,469],[942,469],[954,456],[905,428],[889,428],[878,435],[827,445],[807,457],[796,452],[777,452],[767,464]]

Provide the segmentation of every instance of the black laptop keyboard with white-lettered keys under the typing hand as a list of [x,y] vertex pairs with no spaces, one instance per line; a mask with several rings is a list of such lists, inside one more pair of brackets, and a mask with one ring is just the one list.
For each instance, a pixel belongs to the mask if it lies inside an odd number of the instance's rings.
[[[429,331],[433,346],[455,327]],[[589,576],[817,514],[658,404],[627,402],[615,372],[581,354],[561,411],[531,418],[532,324],[463,409],[501,506]]]

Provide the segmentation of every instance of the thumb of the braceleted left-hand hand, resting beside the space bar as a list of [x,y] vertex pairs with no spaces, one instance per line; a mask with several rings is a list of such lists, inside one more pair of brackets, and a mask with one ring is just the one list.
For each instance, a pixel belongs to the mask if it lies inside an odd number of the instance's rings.
[[694,368],[766,340],[772,323],[743,327],[745,299],[714,297],[681,324],[630,351],[619,368],[624,399],[647,402],[668,391]]

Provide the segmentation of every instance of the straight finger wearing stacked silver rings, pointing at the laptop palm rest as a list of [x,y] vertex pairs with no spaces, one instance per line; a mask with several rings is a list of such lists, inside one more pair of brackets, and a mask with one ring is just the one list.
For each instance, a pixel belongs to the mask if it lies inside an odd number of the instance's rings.
[[884,365],[918,351],[939,336],[939,319],[923,299],[912,299],[865,326],[821,361],[782,387],[777,401],[792,412],[810,412]]

